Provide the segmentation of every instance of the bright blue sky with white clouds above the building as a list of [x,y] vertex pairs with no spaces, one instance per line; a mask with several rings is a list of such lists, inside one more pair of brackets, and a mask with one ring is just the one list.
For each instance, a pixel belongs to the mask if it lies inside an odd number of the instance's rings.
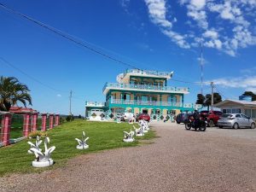
[[[0,75],[31,90],[39,112],[84,114],[104,102],[102,88],[125,69],[174,72],[189,87],[184,102],[211,93],[238,99],[256,92],[256,0],[0,0],[113,61],[0,7]],[[202,49],[201,49],[202,45]]]

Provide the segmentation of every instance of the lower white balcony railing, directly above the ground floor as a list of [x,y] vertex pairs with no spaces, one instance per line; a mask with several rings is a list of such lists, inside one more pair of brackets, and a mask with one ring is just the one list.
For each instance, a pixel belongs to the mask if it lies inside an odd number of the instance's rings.
[[[122,100],[122,99],[112,99],[112,104],[126,104],[126,105],[151,105],[151,106],[172,106],[172,107],[182,107],[181,102],[155,102],[155,101],[141,101],[141,100]],[[108,104],[108,102],[107,102]]]

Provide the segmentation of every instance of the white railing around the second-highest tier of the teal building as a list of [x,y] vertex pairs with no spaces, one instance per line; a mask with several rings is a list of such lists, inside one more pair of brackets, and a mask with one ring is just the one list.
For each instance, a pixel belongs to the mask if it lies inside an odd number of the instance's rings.
[[189,93],[188,87],[169,87],[169,86],[157,86],[150,84],[119,84],[119,83],[106,83],[103,87],[103,92],[107,88],[124,89],[124,90],[160,90],[160,91],[171,91],[177,93]]

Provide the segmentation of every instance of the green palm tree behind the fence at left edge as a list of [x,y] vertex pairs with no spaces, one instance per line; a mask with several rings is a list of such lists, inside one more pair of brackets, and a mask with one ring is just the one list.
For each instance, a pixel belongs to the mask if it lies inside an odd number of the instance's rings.
[[26,84],[21,84],[15,77],[0,77],[0,111],[9,111],[11,106],[21,102],[26,108],[26,102],[32,105],[32,98]]

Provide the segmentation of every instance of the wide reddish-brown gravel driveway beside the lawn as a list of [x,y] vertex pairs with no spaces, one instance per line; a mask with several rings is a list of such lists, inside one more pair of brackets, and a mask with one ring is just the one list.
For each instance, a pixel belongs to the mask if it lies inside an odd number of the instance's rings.
[[0,178],[0,191],[256,191],[256,130],[153,123],[153,144],[85,154],[56,170]]

